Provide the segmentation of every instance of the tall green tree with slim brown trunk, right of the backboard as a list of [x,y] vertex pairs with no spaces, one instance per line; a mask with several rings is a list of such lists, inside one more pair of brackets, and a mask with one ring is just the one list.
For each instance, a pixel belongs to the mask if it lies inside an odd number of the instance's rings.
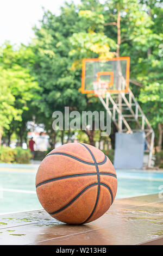
[[[130,56],[130,82],[134,94],[162,145],[162,1],[106,1],[105,34],[116,40],[117,56]],[[133,84],[139,87],[134,87]],[[159,111],[156,114],[156,109]]]

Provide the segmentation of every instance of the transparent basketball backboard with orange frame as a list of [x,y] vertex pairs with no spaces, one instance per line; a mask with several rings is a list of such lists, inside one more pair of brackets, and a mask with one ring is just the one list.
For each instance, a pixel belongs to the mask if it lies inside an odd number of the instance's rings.
[[94,93],[93,82],[105,81],[110,93],[127,93],[129,89],[129,57],[83,59],[82,93]]

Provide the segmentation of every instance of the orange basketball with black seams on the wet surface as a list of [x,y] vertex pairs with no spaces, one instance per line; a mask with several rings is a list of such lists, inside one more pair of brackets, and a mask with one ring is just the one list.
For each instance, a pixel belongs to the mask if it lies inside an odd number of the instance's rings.
[[36,174],[41,205],[65,223],[95,221],[110,208],[116,191],[112,163],[101,150],[84,143],[68,143],[52,150]]

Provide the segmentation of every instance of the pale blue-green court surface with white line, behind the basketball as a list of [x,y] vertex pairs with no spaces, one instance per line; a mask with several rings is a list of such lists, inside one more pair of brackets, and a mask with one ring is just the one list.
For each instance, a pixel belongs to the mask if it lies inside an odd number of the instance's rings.
[[[42,209],[35,190],[38,166],[15,164],[0,166],[0,214]],[[3,168],[4,167],[4,168]],[[153,170],[116,170],[116,199],[161,192],[163,172]]]

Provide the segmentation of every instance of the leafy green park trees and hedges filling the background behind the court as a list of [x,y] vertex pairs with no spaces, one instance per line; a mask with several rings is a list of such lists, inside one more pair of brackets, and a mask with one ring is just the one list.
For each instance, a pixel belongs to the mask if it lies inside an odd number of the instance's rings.
[[74,0],[62,3],[57,14],[44,9],[28,43],[3,38],[0,162],[30,163],[30,137],[39,142],[35,160],[59,144],[80,141],[99,142],[113,161],[113,123],[109,137],[95,130],[54,131],[52,113],[64,113],[65,106],[70,111],[104,111],[98,97],[80,92],[82,59],[129,56],[130,88],[154,129],[155,166],[162,168],[162,19],[161,0]]

